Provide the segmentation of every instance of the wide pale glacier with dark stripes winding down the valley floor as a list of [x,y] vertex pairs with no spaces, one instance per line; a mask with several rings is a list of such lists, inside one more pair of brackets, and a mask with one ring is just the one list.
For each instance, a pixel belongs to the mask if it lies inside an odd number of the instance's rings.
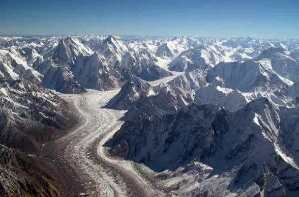
[[[146,179],[140,166],[106,155],[102,145],[120,128],[125,111],[102,108],[119,90],[84,94],[60,94],[80,113],[81,124],[66,136],[46,144],[55,152],[63,170],[66,197],[164,197],[169,196],[154,179]],[[51,144],[52,143],[52,144]],[[50,148],[51,147],[51,148]],[[61,175],[62,176],[62,175]]]

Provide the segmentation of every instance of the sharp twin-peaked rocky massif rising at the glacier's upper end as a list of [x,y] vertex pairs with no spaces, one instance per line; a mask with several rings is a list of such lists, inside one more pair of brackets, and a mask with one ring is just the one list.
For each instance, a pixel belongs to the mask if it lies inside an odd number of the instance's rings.
[[43,86],[63,93],[86,92],[84,88],[118,88],[128,77],[128,71],[118,63],[124,50],[120,46],[114,37],[109,36],[100,45],[102,54],[91,55],[89,48],[67,37],[60,40],[47,59],[38,59],[34,68],[44,75]]

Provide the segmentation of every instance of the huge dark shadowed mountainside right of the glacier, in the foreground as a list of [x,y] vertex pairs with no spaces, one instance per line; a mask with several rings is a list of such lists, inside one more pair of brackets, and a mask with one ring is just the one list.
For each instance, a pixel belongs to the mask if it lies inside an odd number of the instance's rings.
[[107,144],[115,155],[156,171],[169,169],[159,176],[174,181],[179,195],[296,197],[298,120],[298,109],[267,98],[235,113],[190,104],[162,117],[126,120]]

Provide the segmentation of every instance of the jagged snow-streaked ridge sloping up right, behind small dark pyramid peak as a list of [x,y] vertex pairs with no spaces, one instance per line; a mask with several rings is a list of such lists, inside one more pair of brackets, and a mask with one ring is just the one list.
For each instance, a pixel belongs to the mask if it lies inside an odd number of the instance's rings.
[[206,71],[194,70],[178,76],[167,84],[153,86],[151,94],[142,94],[128,108],[128,119],[150,118],[154,115],[174,113],[194,100],[194,91],[207,83]]

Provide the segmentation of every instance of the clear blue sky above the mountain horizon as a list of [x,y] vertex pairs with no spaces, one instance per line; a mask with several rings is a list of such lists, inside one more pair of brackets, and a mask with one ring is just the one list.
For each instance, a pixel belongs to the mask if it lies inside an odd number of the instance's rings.
[[289,38],[299,0],[0,0],[0,33]]

